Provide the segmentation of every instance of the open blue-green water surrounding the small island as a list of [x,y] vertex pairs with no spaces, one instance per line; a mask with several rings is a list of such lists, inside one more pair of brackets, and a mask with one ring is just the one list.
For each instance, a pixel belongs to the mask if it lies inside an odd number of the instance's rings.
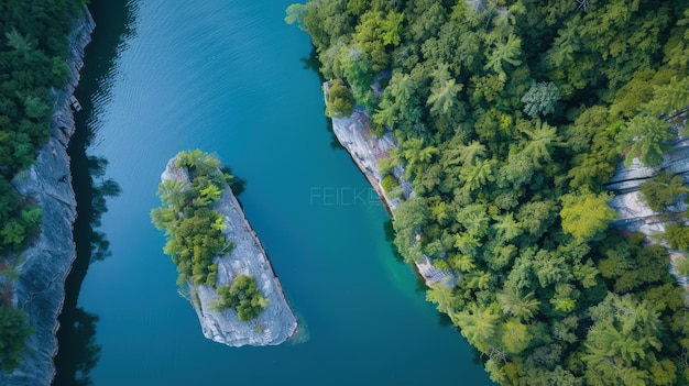
[[[96,4],[99,27],[121,34],[100,21],[122,20],[130,32],[114,45],[108,31],[95,36],[78,90],[92,102],[79,118],[87,154],[107,159],[103,178],[122,189],[98,228],[111,255],[88,266],[78,294],[77,316],[95,331],[81,340],[99,346],[94,385],[490,385],[395,260],[374,191],[331,145],[308,36],[283,22],[288,4]],[[307,342],[210,342],[177,295],[149,211],[167,159],[196,147],[247,180],[240,200],[308,324]],[[77,231],[78,243],[90,234]]]

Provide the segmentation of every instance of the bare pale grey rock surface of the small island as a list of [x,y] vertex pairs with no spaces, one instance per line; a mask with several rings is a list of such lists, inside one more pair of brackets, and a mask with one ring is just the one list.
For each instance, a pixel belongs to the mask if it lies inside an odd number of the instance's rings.
[[[176,159],[175,157],[167,163],[161,176],[162,180],[189,181],[186,170],[175,166]],[[230,346],[283,343],[296,333],[297,320],[289,309],[265,251],[247,221],[232,189],[229,187],[225,189],[212,209],[223,217],[227,228],[222,233],[236,245],[229,256],[214,260],[218,265],[217,287],[231,284],[238,275],[252,275],[269,305],[255,319],[240,321],[237,311],[231,308],[221,312],[214,310],[212,305],[218,299],[214,287],[189,284],[189,301],[196,310],[204,335]]]

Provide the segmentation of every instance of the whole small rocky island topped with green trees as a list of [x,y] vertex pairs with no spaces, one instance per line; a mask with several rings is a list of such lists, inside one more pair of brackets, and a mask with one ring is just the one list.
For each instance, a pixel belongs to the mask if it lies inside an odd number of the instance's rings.
[[265,251],[232,194],[230,176],[201,151],[181,152],[161,176],[164,252],[177,265],[181,294],[204,335],[230,346],[275,345],[297,331]]

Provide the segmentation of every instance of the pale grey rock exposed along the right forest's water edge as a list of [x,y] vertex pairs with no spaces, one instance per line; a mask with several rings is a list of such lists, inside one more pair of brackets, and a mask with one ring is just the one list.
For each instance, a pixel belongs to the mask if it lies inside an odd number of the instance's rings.
[[[328,82],[324,84],[324,93],[328,92],[329,87]],[[402,166],[396,166],[392,170],[402,187],[401,197],[389,197],[381,185],[385,176],[381,174],[378,162],[390,157],[390,152],[397,147],[395,139],[390,132],[380,137],[373,136],[371,134],[371,117],[361,108],[356,108],[350,117],[333,118],[332,131],[394,216],[400,202],[414,195],[412,184],[403,177],[404,168]],[[428,286],[435,283],[455,286],[457,283],[457,277],[452,273],[436,268],[426,256],[422,262],[414,262],[414,264]]]

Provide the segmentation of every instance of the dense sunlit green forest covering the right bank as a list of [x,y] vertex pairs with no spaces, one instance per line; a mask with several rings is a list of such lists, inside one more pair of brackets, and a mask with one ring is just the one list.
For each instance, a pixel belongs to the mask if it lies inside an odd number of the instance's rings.
[[[287,9],[364,108],[415,197],[395,244],[457,277],[427,298],[502,385],[687,385],[685,289],[665,247],[609,228],[622,161],[657,165],[689,104],[685,0],[310,0]],[[387,180],[386,191],[395,180]],[[681,177],[642,187],[687,253]],[[683,261],[685,272],[689,263]]]

